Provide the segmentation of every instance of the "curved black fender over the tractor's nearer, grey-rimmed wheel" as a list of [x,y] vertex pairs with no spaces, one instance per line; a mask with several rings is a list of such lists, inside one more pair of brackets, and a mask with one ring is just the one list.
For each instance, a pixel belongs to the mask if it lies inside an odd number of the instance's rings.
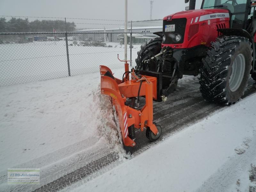
[[253,60],[252,60],[252,73],[255,72],[255,57],[256,57],[256,53],[255,53],[255,43],[253,41],[253,37],[244,29],[232,29],[232,28],[225,28],[225,29],[217,29],[217,31],[219,31],[220,33],[222,33],[222,35],[227,35],[227,36],[243,36],[247,39],[249,39],[249,41],[252,43],[252,54],[253,54]]

